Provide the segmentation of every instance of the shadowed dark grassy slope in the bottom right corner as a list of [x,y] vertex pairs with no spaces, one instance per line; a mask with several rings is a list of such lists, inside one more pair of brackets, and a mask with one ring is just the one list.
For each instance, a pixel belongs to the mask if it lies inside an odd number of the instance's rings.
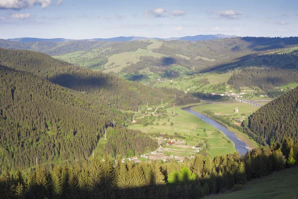
[[206,199],[297,199],[298,167],[285,169],[244,185],[243,190]]

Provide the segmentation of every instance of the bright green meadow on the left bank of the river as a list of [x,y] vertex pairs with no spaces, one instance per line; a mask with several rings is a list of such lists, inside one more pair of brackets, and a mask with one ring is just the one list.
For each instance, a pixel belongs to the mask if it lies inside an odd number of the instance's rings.
[[[171,107],[166,109],[167,116],[164,118],[156,117],[153,125],[143,126],[142,124],[132,124],[128,128],[139,129],[144,133],[167,133],[168,135],[181,135],[185,138],[174,138],[185,144],[175,144],[174,146],[164,146],[164,154],[178,157],[190,157],[196,153],[192,146],[202,144],[207,153],[213,158],[219,154],[227,154],[235,152],[233,143],[226,138],[224,133],[216,131],[216,128],[202,121],[195,115],[181,110],[180,107]],[[173,115],[172,115],[173,112]],[[158,125],[156,123],[158,122]],[[170,123],[173,123],[173,126]],[[204,130],[205,129],[205,130]],[[168,141],[166,141],[168,142]],[[168,150],[169,149],[169,150]],[[167,151],[168,150],[168,151]]]

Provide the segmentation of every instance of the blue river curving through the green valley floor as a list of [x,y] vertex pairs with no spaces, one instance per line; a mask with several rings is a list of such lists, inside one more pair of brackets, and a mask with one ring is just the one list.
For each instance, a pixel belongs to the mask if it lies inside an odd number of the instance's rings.
[[184,108],[182,108],[182,110],[185,110],[189,113],[196,115],[203,121],[209,123],[210,125],[214,126],[218,130],[222,131],[226,135],[226,137],[228,137],[234,143],[235,148],[239,154],[242,154],[242,153],[246,154],[246,152],[248,151],[247,145],[245,144],[245,142],[239,140],[237,138],[237,136],[235,135],[235,133],[229,131],[223,124],[217,122],[216,120],[214,120],[202,113],[192,110],[191,107],[184,107]]

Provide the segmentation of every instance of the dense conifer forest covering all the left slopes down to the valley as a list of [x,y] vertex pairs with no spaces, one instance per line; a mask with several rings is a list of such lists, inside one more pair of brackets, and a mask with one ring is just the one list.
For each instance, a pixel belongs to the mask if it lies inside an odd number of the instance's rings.
[[[87,159],[104,128],[113,120],[130,122],[139,105],[199,101],[38,52],[0,49],[0,64],[0,171]],[[118,124],[112,132],[101,153],[135,155],[157,147],[141,132]]]

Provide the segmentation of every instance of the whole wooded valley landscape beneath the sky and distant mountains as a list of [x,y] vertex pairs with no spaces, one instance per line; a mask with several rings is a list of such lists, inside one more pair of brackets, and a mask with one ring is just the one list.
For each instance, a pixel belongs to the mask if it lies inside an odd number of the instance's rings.
[[297,41],[0,40],[0,197],[264,196],[297,170]]

